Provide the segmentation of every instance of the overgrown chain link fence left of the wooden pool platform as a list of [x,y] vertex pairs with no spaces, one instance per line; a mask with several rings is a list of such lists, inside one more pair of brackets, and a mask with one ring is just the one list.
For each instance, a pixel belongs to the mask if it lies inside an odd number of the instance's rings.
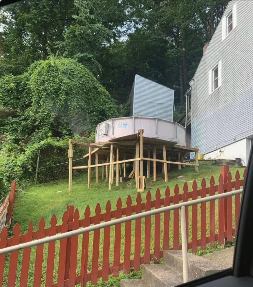
[[[87,147],[73,146],[73,166],[87,166]],[[92,159],[95,164],[95,159]],[[39,151],[37,159],[36,183],[44,183],[56,179],[68,178],[68,149],[46,148]],[[73,176],[86,173],[86,169],[73,170]]]

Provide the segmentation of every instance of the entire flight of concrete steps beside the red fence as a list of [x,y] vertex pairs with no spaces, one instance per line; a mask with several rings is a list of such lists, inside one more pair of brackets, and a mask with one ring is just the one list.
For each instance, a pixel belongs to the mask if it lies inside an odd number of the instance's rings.
[[[188,253],[189,280],[201,278],[224,267],[215,261]],[[173,287],[183,283],[182,251],[164,251],[163,264],[142,265],[141,279],[122,279],[121,287]]]

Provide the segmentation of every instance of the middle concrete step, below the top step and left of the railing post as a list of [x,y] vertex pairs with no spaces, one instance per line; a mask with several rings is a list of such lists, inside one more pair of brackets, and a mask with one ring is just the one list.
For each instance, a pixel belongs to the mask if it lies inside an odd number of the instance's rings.
[[149,287],[173,287],[183,283],[183,277],[163,264],[142,266],[142,280]]

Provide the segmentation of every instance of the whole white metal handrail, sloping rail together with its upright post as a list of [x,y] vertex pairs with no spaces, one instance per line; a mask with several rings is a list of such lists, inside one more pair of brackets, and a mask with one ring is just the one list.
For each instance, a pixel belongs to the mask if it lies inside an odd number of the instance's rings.
[[84,227],[84,228],[77,229],[77,230],[68,231],[65,233],[61,233],[61,234],[57,234],[57,235],[53,235],[53,236],[49,236],[49,237],[45,237],[45,238],[41,238],[41,239],[37,239],[34,241],[30,241],[30,242],[21,243],[18,245],[14,245],[14,246],[0,249],[0,255],[10,253],[13,251],[17,251],[17,250],[21,250],[21,249],[25,249],[25,248],[34,247],[34,246],[41,245],[41,244],[46,244],[46,243],[49,243],[51,241],[56,241],[56,240],[72,237],[75,235],[84,234],[87,232],[95,231],[95,230],[106,228],[109,226],[114,226],[116,224],[122,224],[122,223],[125,223],[128,221],[140,219],[143,217],[156,215],[156,214],[163,213],[166,211],[180,209],[181,210],[183,277],[184,277],[184,282],[187,282],[188,281],[188,261],[187,261],[187,252],[188,252],[187,249],[188,248],[187,248],[187,236],[186,236],[185,207],[192,206],[192,205],[199,204],[199,203],[212,201],[215,199],[221,199],[221,198],[241,194],[242,192],[243,192],[243,189],[229,191],[229,192],[225,192],[222,194],[212,195],[209,197],[199,198],[199,199],[195,199],[195,200],[191,200],[191,201],[182,202],[179,204],[174,204],[174,205],[170,205],[170,206],[166,206],[166,207],[162,207],[162,208],[157,208],[157,209],[141,212],[141,213],[134,214],[134,215],[129,215],[129,216],[126,216],[123,218],[114,219],[112,221],[107,221],[107,222],[102,222],[102,223],[95,224],[92,226]]

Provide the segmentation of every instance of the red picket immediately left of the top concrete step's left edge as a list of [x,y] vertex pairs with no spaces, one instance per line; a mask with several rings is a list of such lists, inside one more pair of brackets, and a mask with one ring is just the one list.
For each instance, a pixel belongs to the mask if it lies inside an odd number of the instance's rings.
[[[155,209],[161,207],[161,193],[156,190]],[[160,232],[161,232],[161,214],[155,215],[155,234],[154,234],[154,264],[160,263]]]

